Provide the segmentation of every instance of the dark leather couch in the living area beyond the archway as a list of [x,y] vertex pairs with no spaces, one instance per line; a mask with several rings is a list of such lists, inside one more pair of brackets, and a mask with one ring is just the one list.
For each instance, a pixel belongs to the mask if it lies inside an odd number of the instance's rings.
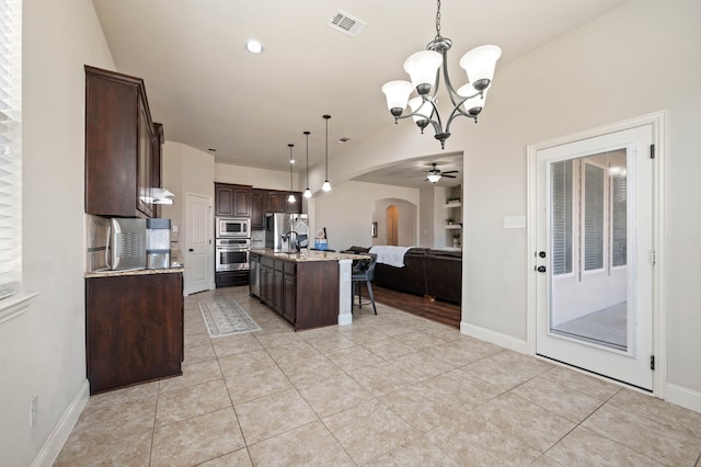
[[[350,247],[348,251],[360,253],[369,251],[369,248]],[[460,305],[462,252],[411,248],[404,254],[404,267],[377,263],[374,284]]]

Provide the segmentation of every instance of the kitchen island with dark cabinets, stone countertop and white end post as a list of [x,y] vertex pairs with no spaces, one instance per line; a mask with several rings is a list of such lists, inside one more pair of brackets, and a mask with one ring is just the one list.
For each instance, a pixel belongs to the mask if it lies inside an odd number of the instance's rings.
[[349,324],[350,265],[365,258],[317,250],[251,250],[251,295],[280,314],[296,331]]

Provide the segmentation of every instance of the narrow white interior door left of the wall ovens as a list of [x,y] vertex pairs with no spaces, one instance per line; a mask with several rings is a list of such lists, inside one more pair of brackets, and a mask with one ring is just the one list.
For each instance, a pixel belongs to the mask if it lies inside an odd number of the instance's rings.
[[214,246],[211,229],[211,197],[187,193],[185,295],[214,288]]

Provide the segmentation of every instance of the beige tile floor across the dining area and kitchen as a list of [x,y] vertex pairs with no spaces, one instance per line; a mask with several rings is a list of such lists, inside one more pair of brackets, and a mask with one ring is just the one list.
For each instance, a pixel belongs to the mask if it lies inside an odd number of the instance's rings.
[[[219,294],[263,330],[210,339]],[[701,465],[701,413],[382,305],[296,333],[189,296],[183,372],[91,397],[55,465]]]

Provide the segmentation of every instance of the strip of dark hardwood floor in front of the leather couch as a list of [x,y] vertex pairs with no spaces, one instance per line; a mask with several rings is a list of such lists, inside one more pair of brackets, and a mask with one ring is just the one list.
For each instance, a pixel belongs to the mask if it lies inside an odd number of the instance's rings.
[[[459,305],[430,300],[418,295],[405,294],[376,285],[372,285],[372,292],[377,303],[460,329],[461,307]],[[367,299],[367,289],[365,288],[363,296]]]

